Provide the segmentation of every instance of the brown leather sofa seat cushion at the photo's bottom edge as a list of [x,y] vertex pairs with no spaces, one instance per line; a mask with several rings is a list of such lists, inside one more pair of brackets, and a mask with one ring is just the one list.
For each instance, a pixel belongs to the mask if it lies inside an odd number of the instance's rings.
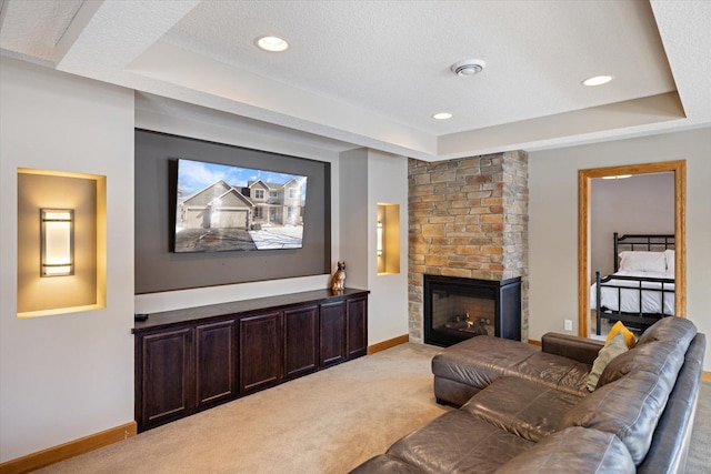
[[489,473],[534,443],[455,410],[390,446],[388,455],[431,473]]

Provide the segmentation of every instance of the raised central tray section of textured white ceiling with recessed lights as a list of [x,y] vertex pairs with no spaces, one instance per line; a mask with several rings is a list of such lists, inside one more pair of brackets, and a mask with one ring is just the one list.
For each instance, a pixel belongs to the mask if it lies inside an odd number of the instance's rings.
[[[675,89],[649,3],[513,3],[202,2],[163,41],[432,134]],[[291,48],[257,50],[264,32]],[[450,71],[470,58],[487,61],[481,74]],[[600,73],[614,84],[580,84]]]

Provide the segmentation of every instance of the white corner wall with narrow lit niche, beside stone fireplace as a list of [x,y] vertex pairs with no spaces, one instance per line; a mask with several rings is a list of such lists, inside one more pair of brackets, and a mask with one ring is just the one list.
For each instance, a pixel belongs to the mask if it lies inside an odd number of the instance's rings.
[[[408,160],[373,150],[341,153],[341,250],[347,286],[370,290],[368,344],[408,333]],[[400,205],[400,273],[378,274],[378,203]]]

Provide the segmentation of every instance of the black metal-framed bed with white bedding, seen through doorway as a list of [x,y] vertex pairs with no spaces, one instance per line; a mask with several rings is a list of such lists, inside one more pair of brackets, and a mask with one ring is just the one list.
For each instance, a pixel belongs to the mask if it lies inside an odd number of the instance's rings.
[[614,273],[595,272],[590,288],[595,334],[602,319],[643,331],[674,315],[674,235],[615,232],[613,239]]

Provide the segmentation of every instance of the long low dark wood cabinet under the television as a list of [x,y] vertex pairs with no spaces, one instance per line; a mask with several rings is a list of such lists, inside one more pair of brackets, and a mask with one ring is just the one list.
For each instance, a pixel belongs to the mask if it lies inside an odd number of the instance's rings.
[[368,291],[294,293],[137,322],[140,432],[364,355]]

